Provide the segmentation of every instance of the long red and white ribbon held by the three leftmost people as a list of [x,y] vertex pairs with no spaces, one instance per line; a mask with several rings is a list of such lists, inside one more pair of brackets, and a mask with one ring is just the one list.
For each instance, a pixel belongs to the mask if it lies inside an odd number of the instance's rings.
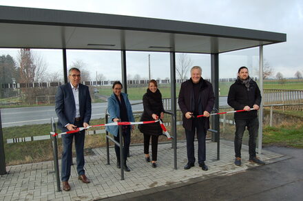
[[163,122],[159,119],[159,120],[149,120],[149,121],[138,121],[138,122],[113,122],[113,123],[106,123],[106,124],[101,124],[101,125],[90,125],[88,127],[79,127],[76,128],[74,131],[66,131],[60,134],[56,134],[55,132],[50,132],[50,134],[52,134],[52,136],[61,136],[61,135],[65,135],[65,134],[74,134],[77,133],[79,131],[83,131],[84,129],[90,129],[92,127],[106,127],[106,126],[118,126],[118,125],[141,125],[141,124],[148,124],[148,123],[160,123],[161,128],[163,129],[163,134],[165,136],[167,136],[167,138],[171,139],[171,136],[169,135],[167,129],[165,128]]

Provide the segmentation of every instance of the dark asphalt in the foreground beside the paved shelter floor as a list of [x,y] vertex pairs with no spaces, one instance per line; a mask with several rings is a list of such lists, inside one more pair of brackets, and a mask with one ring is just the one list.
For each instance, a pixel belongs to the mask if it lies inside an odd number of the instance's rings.
[[291,158],[166,191],[150,194],[140,191],[139,196],[137,193],[132,197],[129,193],[103,200],[303,200],[303,149],[267,149]]

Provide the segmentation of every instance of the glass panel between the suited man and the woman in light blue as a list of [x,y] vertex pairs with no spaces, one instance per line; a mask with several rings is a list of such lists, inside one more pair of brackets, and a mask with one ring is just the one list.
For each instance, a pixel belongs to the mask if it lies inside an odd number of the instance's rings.
[[[67,50],[67,71],[71,67],[81,70],[81,82],[90,88],[92,119],[90,125],[105,123],[107,98],[112,94],[112,83],[122,81],[121,52],[105,50]],[[87,130],[85,154],[91,148],[105,146],[105,128]]]

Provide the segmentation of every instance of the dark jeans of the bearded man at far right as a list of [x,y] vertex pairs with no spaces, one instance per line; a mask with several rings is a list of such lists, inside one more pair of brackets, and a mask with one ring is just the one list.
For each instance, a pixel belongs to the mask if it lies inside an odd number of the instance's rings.
[[259,120],[253,119],[235,119],[236,133],[235,133],[235,156],[241,157],[242,138],[247,127],[249,131],[249,158],[254,158],[256,139],[258,136]]

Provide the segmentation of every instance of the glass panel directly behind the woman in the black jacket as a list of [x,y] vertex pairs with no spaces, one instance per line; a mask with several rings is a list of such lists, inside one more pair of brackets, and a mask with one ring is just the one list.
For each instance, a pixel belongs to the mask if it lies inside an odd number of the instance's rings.
[[[165,52],[127,52],[127,94],[131,103],[142,103],[146,93],[149,79],[155,79],[158,83],[165,109],[170,109],[170,61],[169,53]],[[143,112],[143,104],[133,105],[133,112],[137,121]],[[170,122],[170,116],[166,115],[164,123]],[[167,126],[170,132],[170,127]],[[159,141],[167,140],[160,136]],[[138,129],[132,134],[132,143],[143,143],[143,134]]]

